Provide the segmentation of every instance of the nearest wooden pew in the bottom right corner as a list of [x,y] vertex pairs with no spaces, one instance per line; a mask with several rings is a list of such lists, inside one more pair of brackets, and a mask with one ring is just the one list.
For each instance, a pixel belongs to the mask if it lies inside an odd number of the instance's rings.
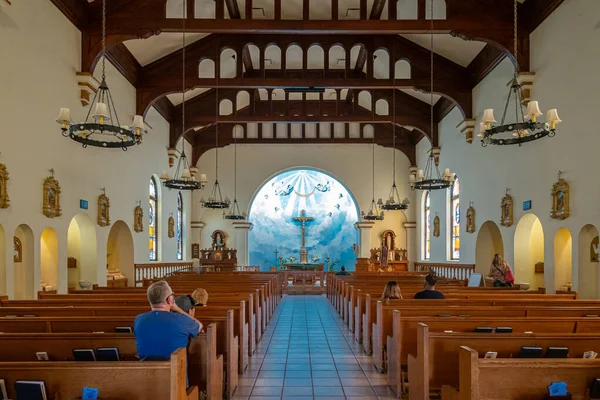
[[442,400],[544,399],[552,382],[566,382],[572,400],[584,400],[598,371],[598,359],[480,359],[461,346],[459,390],[444,386]]

